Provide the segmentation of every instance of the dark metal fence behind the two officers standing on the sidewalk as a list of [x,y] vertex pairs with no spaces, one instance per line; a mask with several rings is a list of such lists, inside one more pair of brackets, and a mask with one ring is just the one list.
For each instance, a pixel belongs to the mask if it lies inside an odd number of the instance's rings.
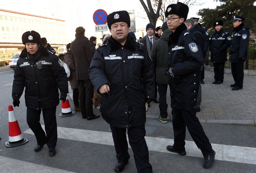
[[[228,61],[225,62],[225,68],[231,69],[231,64],[229,62],[229,48],[228,48]],[[249,46],[247,51],[247,58],[244,63],[245,70],[256,70],[256,39],[249,40]],[[208,50],[206,58],[204,59],[204,64],[213,67],[213,62],[210,61],[210,52]]]

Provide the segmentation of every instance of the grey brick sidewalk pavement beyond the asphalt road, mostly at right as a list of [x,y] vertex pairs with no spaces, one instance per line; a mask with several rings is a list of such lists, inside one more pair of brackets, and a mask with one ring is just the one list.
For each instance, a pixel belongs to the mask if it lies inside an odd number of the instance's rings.
[[[9,70],[12,70],[10,66],[0,67],[0,72]],[[256,126],[256,76],[244,75],[243,89],[232,91],[230,84],[234,83],[234,79],[231,74],[225,73],[224,82],[215,85],[212,84],[214,81],[214,72],[211,69],[209,70],[204,70],[205,83],[201,85],[201,112],[197,112],[197,117],[200,122]],[[69,96],[73,99],[73,92],[70,87]],[[167,119],[169,120],[172,119],[170,103],[170,90],[168,89]],[[158,119],[160,116],[159,104],[151,102],[150,105],[151,107],[149,107],[148,112],[146,112],[146,117]]]

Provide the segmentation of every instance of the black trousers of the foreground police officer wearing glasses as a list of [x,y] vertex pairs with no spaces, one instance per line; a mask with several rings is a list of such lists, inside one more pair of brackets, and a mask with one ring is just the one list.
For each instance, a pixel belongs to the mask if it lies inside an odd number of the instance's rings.
[[186,126],[201,150],[203,156],[208,156],[212,152],[212,145],[204,133],[203,127],[196,117],[196,110],[172,109],[172,125],[174,129],[174,147],[178,151],[185,151]]

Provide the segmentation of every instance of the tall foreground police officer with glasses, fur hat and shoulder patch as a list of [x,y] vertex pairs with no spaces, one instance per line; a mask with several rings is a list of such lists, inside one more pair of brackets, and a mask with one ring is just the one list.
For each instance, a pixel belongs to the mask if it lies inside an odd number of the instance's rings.
[[187,19],[188,6],[178,2],[167,7],[167,26],[172,30],[169,37],[169,61],[166,74],[169,75],[171,90],[172,125],[174,145],[168,151],[186,155],[186,126],[197,147],[204,156],[204,168],[212,166],[215,151],[196,117],[196,100],[200,82],[203,54],[196,38],[187,31],[183,23]]

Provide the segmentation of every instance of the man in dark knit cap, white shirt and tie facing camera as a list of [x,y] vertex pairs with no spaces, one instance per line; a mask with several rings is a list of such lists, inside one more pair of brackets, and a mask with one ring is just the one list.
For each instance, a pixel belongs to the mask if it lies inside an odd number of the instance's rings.
[[[148,23],[148,25],[146,25],[146,36],[143,37],[141,40],[140,40],[140,43],[143,43],[145,44],[145,47],[146,49],[148,50],[148,54],[149,56],[151,56],[151,50],[152,50],[152,47],[153,47],[153,44],[155,43],[156,40],[158,40],[159,38],[157,38],[155,36],[155,27],[152,23]],[[156,78],[155,78],[155,98],[153,99],[153,101],[155,103],[159,103],[159,100],[157,98],[157,85],[156,85]],[[150,107],[150,101],[148,103],[148,107]]]

